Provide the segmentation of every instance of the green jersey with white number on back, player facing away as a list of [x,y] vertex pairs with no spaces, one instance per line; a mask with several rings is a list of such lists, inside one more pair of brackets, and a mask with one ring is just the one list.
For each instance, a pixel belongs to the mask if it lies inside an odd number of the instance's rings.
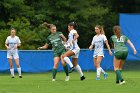
[[114,52],[119,52],[119,51],[128,51],[126,47],[126,42],[128,38],[124,35],[121,35],[120,39],[117,38],[116,35],[111,36],[111,43],[114,44]]

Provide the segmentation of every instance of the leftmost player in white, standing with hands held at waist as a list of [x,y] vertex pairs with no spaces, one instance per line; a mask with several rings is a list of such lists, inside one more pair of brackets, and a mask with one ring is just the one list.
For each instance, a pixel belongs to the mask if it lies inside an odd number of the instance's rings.
[[16,29],[12,28],[11,29],[11,35],[7,37],[5,41],[5,47],[7,48],[7,58],[10,64],[10,72],[12,78],[14,78],[14,67],[13,67],[13,62],[12,58],[14,58],[19,78],[22,78],[21,75],[21,67],[19,64],[19,55],[18,55],[18,47],[21,45],[21,41],[18,36],[16,36]]

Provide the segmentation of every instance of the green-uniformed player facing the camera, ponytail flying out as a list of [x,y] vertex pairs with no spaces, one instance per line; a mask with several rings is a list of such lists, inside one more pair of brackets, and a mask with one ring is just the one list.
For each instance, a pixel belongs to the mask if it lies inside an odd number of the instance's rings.
[[[54,56],[54,66],[53,66],[53,70],[52,70],[52,81],[55,81],[58,64],[61,60],[61,55],[66,52],[64,45],[62,44],[62,40],[64,40],[66,42],[66,38],[62,34],[62,32],[57,32],[55,25],[47,24],[46,22],[45,22],[45,25],[50,28],[51,34],[47,37],[46,44],[42,47],[39,47],[38,49],[47,49],[50,44],[52,45],[53,56]],[[65,81],[69,81],[68,67],[63,59],[62,59],[62,65],[63,65],[64,71],[66,73]]]

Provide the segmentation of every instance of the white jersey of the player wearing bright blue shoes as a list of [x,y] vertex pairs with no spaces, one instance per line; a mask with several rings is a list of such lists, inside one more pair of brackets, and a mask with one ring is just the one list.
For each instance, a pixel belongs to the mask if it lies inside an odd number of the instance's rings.
[[104,42],[107,40],[104,34],[95,35],[92,40],[92,45],[95,46],[94,48],[94,57],[95,56],[104,56]]

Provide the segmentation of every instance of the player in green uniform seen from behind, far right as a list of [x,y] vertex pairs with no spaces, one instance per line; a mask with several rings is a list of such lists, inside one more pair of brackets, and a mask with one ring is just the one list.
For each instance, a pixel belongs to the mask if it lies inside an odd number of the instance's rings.
[[120,26],[113,27],[114,34],[111,36],[111,43],[114,46],[114,71],[116,72],[116,84],[124,84],[122,77],[122,67],[128,55],[126,43],[130,45],[136,55],[137,51],[131,41],[125,35],[121,34]]

